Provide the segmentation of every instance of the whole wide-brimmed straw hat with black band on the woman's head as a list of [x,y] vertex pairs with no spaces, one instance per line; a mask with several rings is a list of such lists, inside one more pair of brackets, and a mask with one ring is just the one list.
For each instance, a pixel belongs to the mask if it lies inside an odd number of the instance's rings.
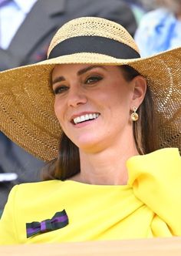
[[50,80],[54,66],[62,63],[129,65],[137,69],[153,94],[160,147],[181,149],[181,48],[140,58],[126,29],[95,17],[63,25],[51,41],[47,60],[0,73],[0,129],[15,143],[45,161],[58,156],[62,130],[54,115]]

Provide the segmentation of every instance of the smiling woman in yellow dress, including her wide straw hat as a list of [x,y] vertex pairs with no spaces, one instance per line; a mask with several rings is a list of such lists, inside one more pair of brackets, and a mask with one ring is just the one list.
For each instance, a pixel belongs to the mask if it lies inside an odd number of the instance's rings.
[[85,17],[48,60],[1,73],[2,131],[51,162],[12,189],[0,244],[181,235],[180,62],[141,59],[121,25]]

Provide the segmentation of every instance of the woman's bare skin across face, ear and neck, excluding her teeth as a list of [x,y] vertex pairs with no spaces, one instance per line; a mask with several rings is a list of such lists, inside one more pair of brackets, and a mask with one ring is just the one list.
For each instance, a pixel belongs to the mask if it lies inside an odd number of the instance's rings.
[[[52,72],[54,112],[64,133],[80,151],[86,184],[127,184],[128,158],[137,155],[130,112],[140,106],[146,80],[123,78],[118,66],[58,65]],[[95,120],[74,124],[74,117],[97,113]]]

